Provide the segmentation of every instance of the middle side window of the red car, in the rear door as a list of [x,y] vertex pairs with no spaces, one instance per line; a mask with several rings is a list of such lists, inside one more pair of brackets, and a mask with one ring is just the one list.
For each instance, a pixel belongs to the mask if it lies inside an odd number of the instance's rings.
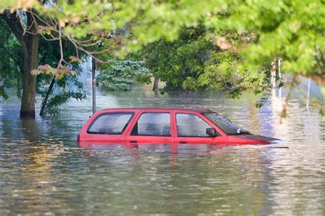
[[134,125],[131,135],[171,136],[171,117],[165,112],[145,112]]

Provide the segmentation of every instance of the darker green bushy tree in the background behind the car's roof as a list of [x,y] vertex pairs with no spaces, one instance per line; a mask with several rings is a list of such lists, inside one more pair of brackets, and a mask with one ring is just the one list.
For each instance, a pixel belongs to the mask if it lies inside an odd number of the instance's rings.
[[[234,71],[219,73],[218,67],[238,62],[239,55],[215,45],[209,36],[212,33],[202,26],[187,27],[182,29],[178,40],[149,44],[140,56],[145,59],[146,67],[166,82],[165,89],[229,90],[237,77]],[[234,40],[243,38],[236,33],[231,35],[237,36]]]

